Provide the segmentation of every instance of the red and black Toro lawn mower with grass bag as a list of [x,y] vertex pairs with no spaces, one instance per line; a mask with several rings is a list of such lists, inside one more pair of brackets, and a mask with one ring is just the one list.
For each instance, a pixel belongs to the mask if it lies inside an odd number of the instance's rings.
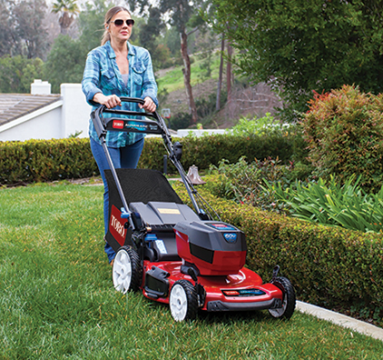
[[[142,99],[122,97],[143,104]],[[289,319],[296,297],[290,281],[273,269],[270,283],[247,267],[245,235],[202,198],[182,168],[182,144],[172,144],[164,120],[104,105],[92,112],[110,170],[109,228],[105,240],[116,252],[113,285],[123,294],[142,291],[169,304],[175,321],[208,312],[268,309],[271,316]],[[114,168],[105,136],[109,131],[161,135],[168,156],[181,176],[193,209],[182,202],[160,172]]]

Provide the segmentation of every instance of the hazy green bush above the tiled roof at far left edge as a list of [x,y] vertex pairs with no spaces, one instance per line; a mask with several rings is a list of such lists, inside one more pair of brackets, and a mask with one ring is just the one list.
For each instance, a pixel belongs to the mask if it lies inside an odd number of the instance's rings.
[[34,79],[43,77],[43,60],[22,55],[0,57],[0,93],[29,94]]

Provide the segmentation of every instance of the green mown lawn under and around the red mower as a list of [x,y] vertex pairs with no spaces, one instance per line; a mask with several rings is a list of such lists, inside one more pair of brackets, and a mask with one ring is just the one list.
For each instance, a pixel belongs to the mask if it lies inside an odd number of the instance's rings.
[[0,190],[0,359],[383,359],[383,342],[296,312],[201,314],[113,289],[102,186]]

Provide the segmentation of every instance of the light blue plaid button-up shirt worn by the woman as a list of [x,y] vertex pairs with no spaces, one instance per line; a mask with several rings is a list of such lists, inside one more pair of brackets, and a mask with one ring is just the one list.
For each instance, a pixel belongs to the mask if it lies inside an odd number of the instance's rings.
[[[150,96],[155,105],[157,100],[157,84],[152,71],[152,59],[147,50],[142,47],[131,45],[127,42],[129,48],[129,78],[127,85],[123,82],[123,76],[120,73],[116,62],[116,55],[108,41],[105,45],[93,49],[86,59],[85,69],[83,71],[83,94],[88,104],[96,109],[100,104],[93,102],[93,96],[97,93],[103,95],[117,95],[139,97],[144,99]],[[130,111],[142,111],[137,104],[123,103],[121,108]],[[109,114],[105,114],[107,117]],[[115,116],[115,115],[113,115]],[[94,129],[92,120],[89,121],[89,135],[101,144]],[[108,132],[106,135],[106,145],[111,147],[123,147],[132,145],[141,140],[143,134]]]

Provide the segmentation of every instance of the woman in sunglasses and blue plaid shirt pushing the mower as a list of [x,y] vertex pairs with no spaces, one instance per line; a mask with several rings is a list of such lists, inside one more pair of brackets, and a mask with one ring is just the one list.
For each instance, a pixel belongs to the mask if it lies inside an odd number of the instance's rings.
[[[124,110],[155,111],[157,85],[152,72],[152,59],[142,47],[128,43],[134,21],[123,6],[114,6],[105,15],[105,31],[101,46],[93,49],[87,57],[83,72],[83,94],[93,109],[100,105],[107,108],[122,106]],[[140,97],[143,105],[121,103],[120,96]],[[138,107],[139,106],[139,107]],[[103,177],[103,220],[105,234],[108,230],[109,192],[103,171],[109,169],[103,147],[90,121],[89,135],[94,159]],[[142,134],[108,132],[106,145],[116,168],[135,168],[143,147]],[[113,248],[105,244],[105,253],[113,264]]]

